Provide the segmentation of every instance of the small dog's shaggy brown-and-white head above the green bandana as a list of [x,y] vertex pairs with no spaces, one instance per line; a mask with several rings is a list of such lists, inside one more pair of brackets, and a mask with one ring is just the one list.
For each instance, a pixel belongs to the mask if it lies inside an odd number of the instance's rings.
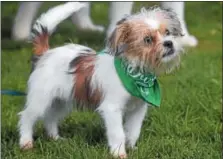
[[133,66],[160,73],[179,63],[182,36],[180,21],[172,10],[143,8],[117,23],[108,47]]

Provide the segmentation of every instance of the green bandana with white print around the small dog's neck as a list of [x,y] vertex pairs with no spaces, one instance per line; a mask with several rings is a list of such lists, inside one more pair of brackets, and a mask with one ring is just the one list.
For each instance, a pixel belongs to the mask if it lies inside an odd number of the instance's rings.
[[[101,51],[98,54],[103,53],[104,51]],[[122,84],[132,96],[138,97],[154,106],[160,106],[160,88],[155,75],[135,71],[130,65],[125,65],[117,57],[114,60],[114,65]]]

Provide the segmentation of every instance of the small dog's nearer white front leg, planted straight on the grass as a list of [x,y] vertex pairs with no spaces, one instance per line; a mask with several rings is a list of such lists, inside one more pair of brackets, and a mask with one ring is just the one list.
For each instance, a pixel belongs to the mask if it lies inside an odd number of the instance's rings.
[[122,109],[119,104],[102,103],[98,111],[105,123],[111,154],[114,157],[126,158]]

